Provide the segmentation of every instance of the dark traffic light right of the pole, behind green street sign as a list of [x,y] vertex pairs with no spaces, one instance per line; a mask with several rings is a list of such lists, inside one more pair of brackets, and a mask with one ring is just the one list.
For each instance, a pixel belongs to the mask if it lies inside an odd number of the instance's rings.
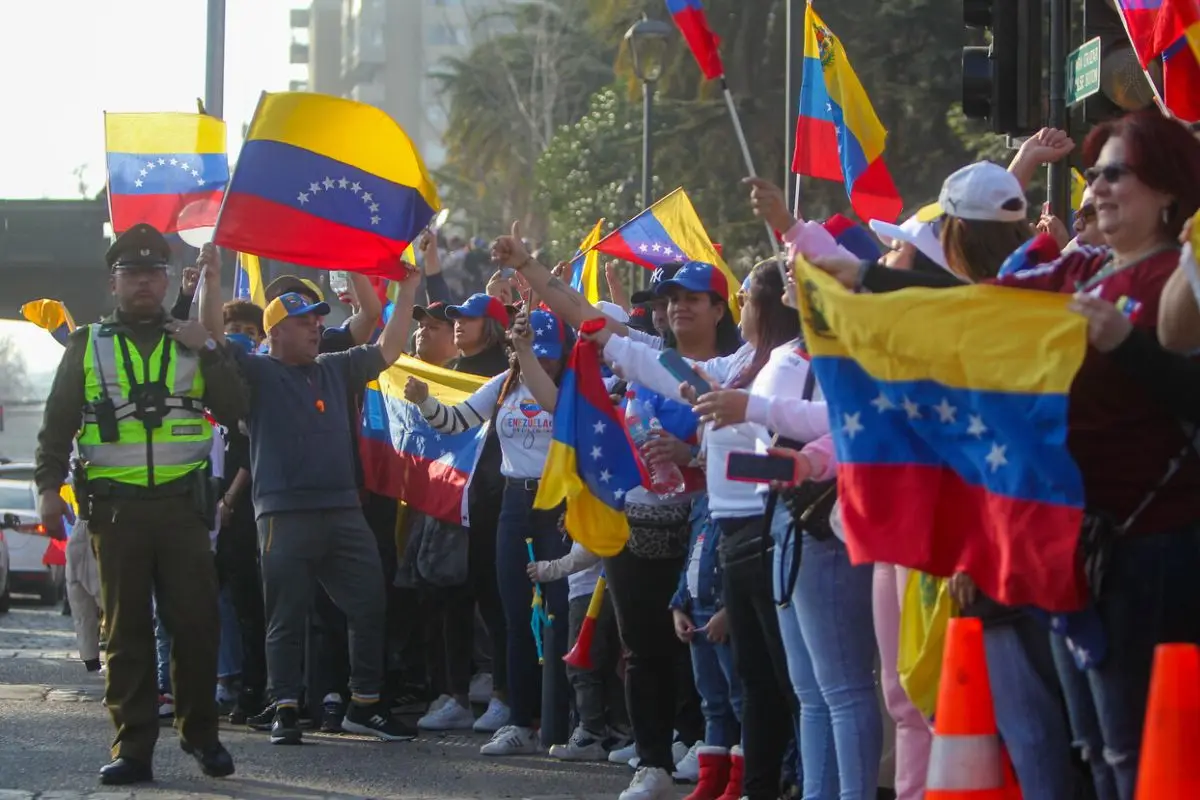
[[[1084,41],[1100,40],[1100,91],[1084,101],[1084,119],[1090,124],[1121,116],[1154,102],[1154,92],[1138,62],[1116,0],[1084,0]],[[1150,67],[1158,77],[1157,62]]]

